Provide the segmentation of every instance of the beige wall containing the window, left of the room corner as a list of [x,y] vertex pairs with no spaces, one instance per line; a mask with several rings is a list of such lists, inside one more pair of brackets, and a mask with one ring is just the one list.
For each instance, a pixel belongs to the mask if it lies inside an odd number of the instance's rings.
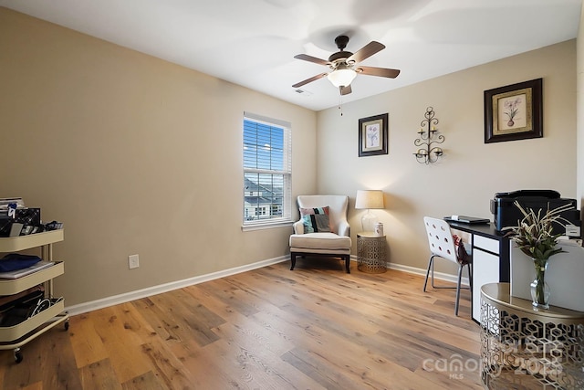
[[316,190],[314,111],[2,7],[0,86],[0,196],[65,223],[68,305],[287,254],[291,227],[241,231],[244,111],[292,123]]

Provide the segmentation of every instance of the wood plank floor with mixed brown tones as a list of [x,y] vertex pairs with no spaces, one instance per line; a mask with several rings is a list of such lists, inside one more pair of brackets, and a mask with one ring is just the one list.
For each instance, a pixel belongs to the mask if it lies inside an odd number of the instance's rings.
[[[470,293],[299,258],[73,316],[0,351],[3,389],[469,389]],[[463,364],[471,370],[457,371]]]

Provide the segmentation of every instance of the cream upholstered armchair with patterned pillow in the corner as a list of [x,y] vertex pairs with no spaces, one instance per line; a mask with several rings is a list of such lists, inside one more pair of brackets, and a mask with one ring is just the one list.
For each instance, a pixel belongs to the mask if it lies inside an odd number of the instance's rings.
[[345,260],[349,273],[349,196],[298,195],[297,205],[300,220],[294,224],[294,234],[290,236],[290,269],[296,266],[297,256],[319,255]]

